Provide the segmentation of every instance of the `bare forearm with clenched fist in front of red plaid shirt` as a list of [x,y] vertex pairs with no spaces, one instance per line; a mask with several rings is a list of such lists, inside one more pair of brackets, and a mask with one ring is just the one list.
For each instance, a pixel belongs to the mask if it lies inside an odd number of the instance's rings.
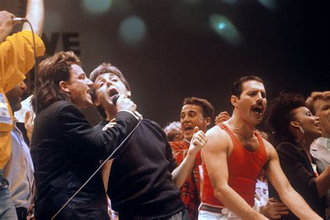
[[196,155],[207,142],[204,132],[198,131],[198,127],[195,127],[194,132],[195,134],[191,139],[187,157],[185,157],[182,163],[172,172],[172,180],[178,188],[182,187],[182,184],[184,184],[191,174],[194,168]]

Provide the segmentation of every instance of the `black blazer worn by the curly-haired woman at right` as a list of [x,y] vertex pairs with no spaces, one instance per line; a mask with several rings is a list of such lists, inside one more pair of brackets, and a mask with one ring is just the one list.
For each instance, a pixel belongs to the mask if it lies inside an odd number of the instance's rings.
[[[319,199],[317,194],[315,175],[308,156],[298,143],[283,142],[277,146],[276,151],[280,159],[281,168],[288,178],[291,186],[308,205],[325,219],[324,198]],[[313,164],[315,161],[312,158]],[[320,173],[319,171],[317,171]],[[269,184],[269,198],[275,197],[281,201],[272,184]],[[282,215],[281,219],[298,219],[292,212]]]

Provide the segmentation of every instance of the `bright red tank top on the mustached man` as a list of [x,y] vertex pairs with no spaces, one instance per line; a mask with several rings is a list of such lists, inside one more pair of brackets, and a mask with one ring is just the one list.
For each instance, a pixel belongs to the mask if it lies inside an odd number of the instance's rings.
[[[262,138],[256,134],[259,147],[254,152],[246,150],[239,142],[235,134],[226,126],[219,125],[224,129],[233,141],[233,152],[227,157],[228,163],[228,185],[234,189],[239,196],[242,196],[251,207],[254,205],[254,195],[256,182],[262,167],[267,162],[267,152]],[[224,207],[224,205],[214,197],[213,187],[203,162],[203,190],[202,203]]]

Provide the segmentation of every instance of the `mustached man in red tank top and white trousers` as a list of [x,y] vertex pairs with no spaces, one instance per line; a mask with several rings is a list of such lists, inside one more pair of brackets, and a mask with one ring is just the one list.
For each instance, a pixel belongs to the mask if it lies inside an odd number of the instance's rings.
[[301,219],[321,219],[292,189],[271,143],[255,132],[267,107],[262,79],[238,79],[230,97],[233,116],[207,132],[202,149],[203,190],[198,219],[267,219],[253,210],[263,169],[281,200]]

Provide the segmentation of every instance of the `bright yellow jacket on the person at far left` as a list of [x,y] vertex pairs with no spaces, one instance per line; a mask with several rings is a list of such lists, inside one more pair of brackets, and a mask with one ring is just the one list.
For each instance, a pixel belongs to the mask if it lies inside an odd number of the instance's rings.
[[[36,55],[45,53],[45,45],[35,34]],[[0,169],[10,158],[10,130],[13,129],[13,113],[6,93],[25,79],[33,68],[33,38],[31,31],[8,36],[0,43]]]

